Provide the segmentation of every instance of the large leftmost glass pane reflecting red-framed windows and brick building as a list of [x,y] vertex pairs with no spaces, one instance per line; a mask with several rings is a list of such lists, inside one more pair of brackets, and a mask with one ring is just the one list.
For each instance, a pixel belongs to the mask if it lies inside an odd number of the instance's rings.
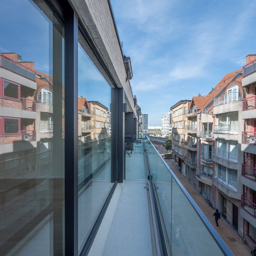
[[[32,0],[1,1],[0,22],[0,254],[63,255],[64,27]],[[59,96],[53,106],[40,102],[42,85]]]

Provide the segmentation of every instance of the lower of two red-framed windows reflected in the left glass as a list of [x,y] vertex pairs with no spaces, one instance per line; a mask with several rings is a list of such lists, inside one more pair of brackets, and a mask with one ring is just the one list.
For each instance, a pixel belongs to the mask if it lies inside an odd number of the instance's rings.
[[20,118],[0,117],[0,124],[1,135],[20,135],[21,133]]

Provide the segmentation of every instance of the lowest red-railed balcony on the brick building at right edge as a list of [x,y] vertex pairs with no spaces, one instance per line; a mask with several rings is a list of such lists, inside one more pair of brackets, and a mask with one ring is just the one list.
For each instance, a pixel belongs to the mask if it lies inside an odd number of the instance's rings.
[[249,223],[256,226],[256,204],[247,199],[245,193],[241,196],[241,211],[240,214]]

